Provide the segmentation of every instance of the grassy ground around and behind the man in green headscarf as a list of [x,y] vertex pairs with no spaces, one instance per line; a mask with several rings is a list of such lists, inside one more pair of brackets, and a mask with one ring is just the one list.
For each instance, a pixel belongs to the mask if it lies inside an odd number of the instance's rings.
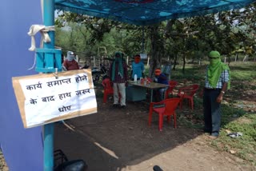
[[[197,83],[204,85],[206,66],[186,66],[185,74],[182,69],[172,71],[171,79],[185,84]],[[228,98],[226,104],[222,104],[222,125],[220,137],[211,141],[211,145],[220,151],[230,153],[242,158],[251,165],[256,165],[256,113],[249,113],[238,106],[243,105],[241,93],[246,90],[256,89],[256,62],[231,62],[231,89],[224,97]],[[256,101],[250,99],[250,101]],[[240,104],[240,105],[238,105]],[[255,111],[256,109],[254,109]],[[178,113],[178,122],[188,128],[202,129],[202,98],[194,97],[194,111]],[[227,136],[226,130],[241,132],[242,137],[232,138]]]

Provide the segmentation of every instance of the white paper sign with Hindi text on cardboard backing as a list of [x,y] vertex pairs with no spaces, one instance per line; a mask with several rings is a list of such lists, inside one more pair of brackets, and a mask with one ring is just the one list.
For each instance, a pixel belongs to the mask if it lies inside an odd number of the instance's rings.
[[90,70],[13,78],[25,128],[97,113]]

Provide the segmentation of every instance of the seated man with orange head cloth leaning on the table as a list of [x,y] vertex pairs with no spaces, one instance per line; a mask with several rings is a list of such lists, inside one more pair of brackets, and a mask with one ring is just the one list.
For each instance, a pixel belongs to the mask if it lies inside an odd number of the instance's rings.
[[[154,82],[169,85],[168,78],[166,77],[165,74],[161,73],[160,68],[156,68],[154,70]],[[154,94],[155,94],[154,97],[155,97],[156,101],[164,100],[166,89],[168,89],[167,86],[165,88],[160,88],[160,89],[158,89],[157,91],[154,92]]]

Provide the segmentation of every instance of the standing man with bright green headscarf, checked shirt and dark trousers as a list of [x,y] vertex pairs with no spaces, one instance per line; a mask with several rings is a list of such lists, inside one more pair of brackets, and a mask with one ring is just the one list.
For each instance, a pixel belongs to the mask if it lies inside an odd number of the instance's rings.
[[209,54],[210,65],[206,68],[206,81],[203,94],[203,107],[206,133],[218,137],[221,125],[221,102],[227,89],[230,89],[230,68],[221,62],[218,51]]

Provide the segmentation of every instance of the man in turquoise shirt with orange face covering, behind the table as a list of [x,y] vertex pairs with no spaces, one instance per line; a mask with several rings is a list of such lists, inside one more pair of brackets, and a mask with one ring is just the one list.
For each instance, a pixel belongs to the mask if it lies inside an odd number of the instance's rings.
[[141,61],[141,56],[139,54],[136,54],[134,57],[134,62],[131,64],[132,67],[132,80],[134,80],[134,75],[137,75],[137,79],[139,80],[140,78],[143,77],[144,73],[144,64]]

